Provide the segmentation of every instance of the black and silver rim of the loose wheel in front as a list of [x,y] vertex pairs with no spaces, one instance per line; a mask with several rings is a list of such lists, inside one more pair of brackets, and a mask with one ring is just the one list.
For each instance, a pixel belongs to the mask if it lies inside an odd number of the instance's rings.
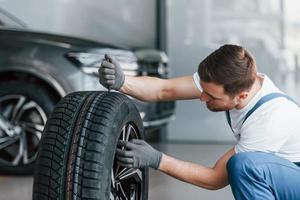
[[[137,128],[127,123],[120,134],[119,140],[130,141],[140,138]],[[122,147],[124,148],[124,147]],[[114,161],[111,174],[110,200],[140,200],[143,195],[143,174],[145,170],[124,168]]]

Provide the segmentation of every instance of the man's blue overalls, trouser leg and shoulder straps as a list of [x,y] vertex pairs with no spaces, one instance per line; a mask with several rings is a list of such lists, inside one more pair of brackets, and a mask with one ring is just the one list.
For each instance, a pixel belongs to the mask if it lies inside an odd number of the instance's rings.
[[[281,93],[263,96],[248,111],[243,123],[262,104],[278,97],[295,102]],[[228,111],[226,118],[232,130]],[[300,200],[300,163],[292,163],[271,153],[243,152],[229,159],[227,172],[236,200]]]

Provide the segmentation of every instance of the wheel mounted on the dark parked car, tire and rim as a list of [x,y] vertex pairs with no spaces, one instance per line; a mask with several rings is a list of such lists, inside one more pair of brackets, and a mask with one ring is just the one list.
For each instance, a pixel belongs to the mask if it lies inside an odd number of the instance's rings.
[[43,88],[23,81],[0,84],[0,120],[14,128],[0,128],[0,173],[33,174],[38,145],[55,101]]

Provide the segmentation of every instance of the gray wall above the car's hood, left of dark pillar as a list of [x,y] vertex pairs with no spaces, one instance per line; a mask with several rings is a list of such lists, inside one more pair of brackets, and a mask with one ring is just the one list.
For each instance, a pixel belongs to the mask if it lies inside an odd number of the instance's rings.
[[155,47],[155,0],[1,0],[0,7],[28,28],[106,41]]

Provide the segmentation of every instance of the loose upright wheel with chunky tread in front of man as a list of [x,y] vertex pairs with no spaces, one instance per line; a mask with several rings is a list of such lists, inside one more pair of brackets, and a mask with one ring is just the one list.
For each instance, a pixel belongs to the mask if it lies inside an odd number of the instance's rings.
[[67,95],[44,129],[33,199],[146,200],[148,169],[123,168],[114,159],[118,140],[143,138],[143,131],[139,112],[123,94]]

